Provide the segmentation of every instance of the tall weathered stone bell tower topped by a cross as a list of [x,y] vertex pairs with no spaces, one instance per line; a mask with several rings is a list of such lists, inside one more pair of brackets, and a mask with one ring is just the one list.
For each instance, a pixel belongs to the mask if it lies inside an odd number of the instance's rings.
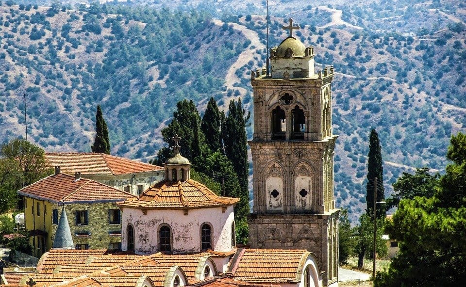
[[314,47],[289,37],[270,50],[271,75],[251,74],[254,207],[251,248],[307,249],[324,286],[338,282],[338,215],[333,199],[333,67],[314,71]]

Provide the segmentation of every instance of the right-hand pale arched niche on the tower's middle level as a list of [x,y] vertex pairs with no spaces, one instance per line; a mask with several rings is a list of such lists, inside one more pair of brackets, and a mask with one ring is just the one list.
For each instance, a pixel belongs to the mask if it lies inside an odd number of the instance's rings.
[[316,190],[313,170],[312,166],[307,162],[300,162],[293,169],[295,208],[297,212],[312,210]]

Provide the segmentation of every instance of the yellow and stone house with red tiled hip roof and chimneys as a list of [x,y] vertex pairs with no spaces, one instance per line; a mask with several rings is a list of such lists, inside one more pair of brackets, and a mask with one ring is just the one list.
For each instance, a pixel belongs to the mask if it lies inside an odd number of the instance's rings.
[[60,172],[18,191],[24,199],[25,228],[31,235],[33,255],[39,257],[53,243],[62,208],[76,249],[119,249],[121,213],[117,201],[134,195],[100,182]]

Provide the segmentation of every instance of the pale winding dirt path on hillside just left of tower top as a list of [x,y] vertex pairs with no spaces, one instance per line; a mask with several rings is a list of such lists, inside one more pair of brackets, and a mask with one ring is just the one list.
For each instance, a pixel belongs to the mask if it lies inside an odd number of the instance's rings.
[[[219,19],[214,19],[213,20],[214,24],[218,26],[223,25],[223,21]],[[228,69],[227,74],[225,75],[225,86],[227,89],[235,89],[239,90],[241,94],[246,93],[246,89],[241,88],[241,87],[235,87],[233,86],[234,83],[240,83],[240,79],[236,76],[235,72],[245,64],[247,64],[250,60],[253,59],[254,54],[257,50],[262,50],[266,46],[261,43],[259,39],[259,35],[257,32],[254,32],[252,30],[249,30],[245,26],[239,25],[237,23],[228,23],[228,25],[233,25],[233,29],[237,31],[241,31],[241,33],[248,38],[251,41],[251,44],[248,46],[246,50],[244,50],[239,56],[236,62],[233,63],[233,65]],[[251,47],[254,46],[255,48]],[[225,99],[224,101],[226,104],[230,102],[230,99]]]

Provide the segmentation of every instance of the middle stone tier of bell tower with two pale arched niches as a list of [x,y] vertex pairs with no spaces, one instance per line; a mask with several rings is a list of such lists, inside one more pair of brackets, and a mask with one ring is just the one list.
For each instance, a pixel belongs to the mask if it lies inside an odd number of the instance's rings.
[[[335,141],[336,136],[321,142],[250,141],[253,213],[322,214],[333,209]],[[303,180],[310,182],[304,193]]]

